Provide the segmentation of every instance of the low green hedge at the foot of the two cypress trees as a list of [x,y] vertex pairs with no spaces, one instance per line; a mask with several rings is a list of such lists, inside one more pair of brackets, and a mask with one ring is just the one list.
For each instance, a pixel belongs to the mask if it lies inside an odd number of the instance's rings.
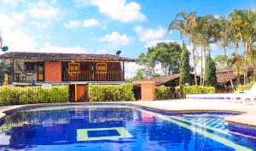
[[[180,86],[175,87],[175,91],[178,92]],[[215,93],[215,87],[204,87],[204,86],[183,86],[183,92],[187,94],[208,94]]]

